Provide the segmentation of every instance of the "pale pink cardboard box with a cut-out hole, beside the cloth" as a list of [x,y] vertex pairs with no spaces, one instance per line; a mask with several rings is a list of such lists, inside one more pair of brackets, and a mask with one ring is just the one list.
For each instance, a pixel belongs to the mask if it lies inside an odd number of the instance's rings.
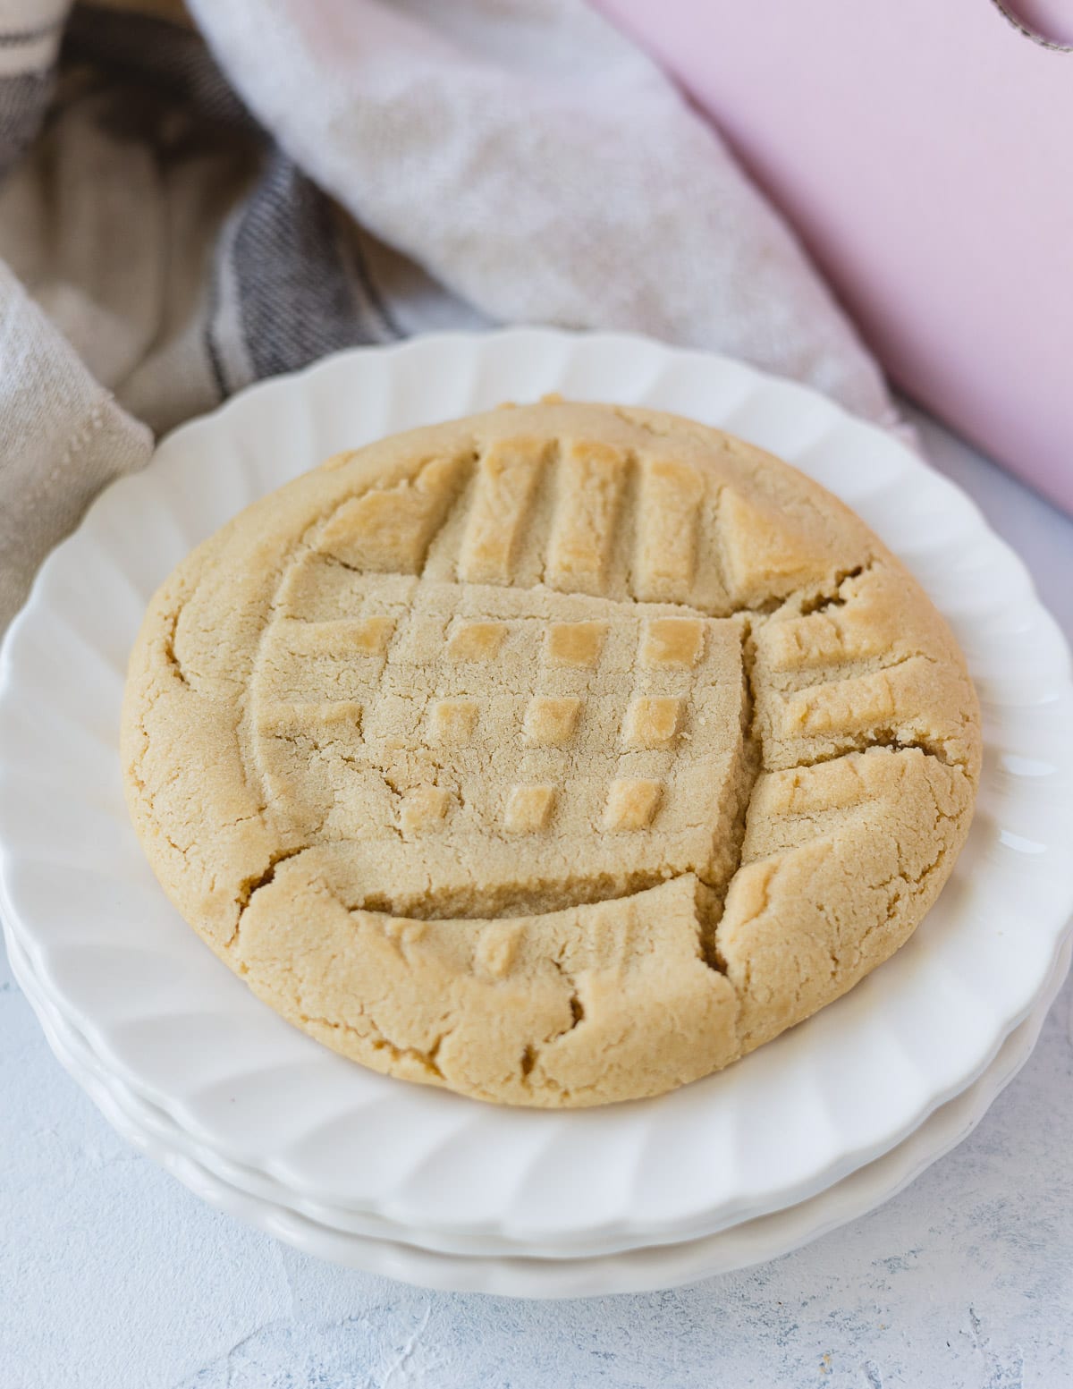
[[[992,0],[598,3],[711,113],[894,382],[1073,511],[1073,53]],[[1067,0],[1004,3],[1073,39]]]

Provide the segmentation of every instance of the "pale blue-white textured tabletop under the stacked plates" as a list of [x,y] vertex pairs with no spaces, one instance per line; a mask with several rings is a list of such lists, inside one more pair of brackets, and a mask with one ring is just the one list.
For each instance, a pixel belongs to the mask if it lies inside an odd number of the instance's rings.
[[[933,461],[1073,635],[1073,521],[937,426]],[[0,958],[4,1389],[1073,1385],[1073,982],[976,1132],[872,1215],[691,1288],[426,1293],[203,1206],[53,1060]]]

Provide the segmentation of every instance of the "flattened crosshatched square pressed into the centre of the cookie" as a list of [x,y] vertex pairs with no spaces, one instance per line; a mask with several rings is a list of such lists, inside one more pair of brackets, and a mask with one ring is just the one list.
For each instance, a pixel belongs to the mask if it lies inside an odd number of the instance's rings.
[[365,615],[389,581],[350,578],[361,615],[278,618],[265,642],[255,718],[276,800],[301,751],[336,772],[316,807],[329,836],[362,813],[404,840],[461,817],[490,839],[648,832],[662,857],[695,831],[740,736],[740,707],[720,717],[741,697],[736,622],[434,581]]

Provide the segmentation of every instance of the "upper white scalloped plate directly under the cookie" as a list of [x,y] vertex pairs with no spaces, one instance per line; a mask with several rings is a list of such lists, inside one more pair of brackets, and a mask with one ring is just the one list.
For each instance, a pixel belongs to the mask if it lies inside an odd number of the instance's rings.
[[[504,399],[679,410],[843,496],[949,618],[984,706],[977,818],[909,945],[720,1075],[639,1104],[498,1110],[373,1075],[258,1003],[155,883],[122,800],[126,653],[153,589],[254,497],[382,433]],[[1069,651],[976,507],[801,386],[618,335],[358,349],[171,435],[43,567],[0,656],[0,906],[65,1017],[140,1099],[300,1196],[443,1236],[584,1253],[801,1201],[976,1079],[1073,908]]]

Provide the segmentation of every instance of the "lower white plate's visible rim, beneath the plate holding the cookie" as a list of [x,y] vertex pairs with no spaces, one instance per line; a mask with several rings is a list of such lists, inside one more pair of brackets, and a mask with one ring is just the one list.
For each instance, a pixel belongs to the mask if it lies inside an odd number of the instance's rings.
[[6,931],[11,968],[61,1064],[90,1095],[128,1142],[161,1163],[203,1200],[296,1249],[348,1268],[398,1278],[444,1292],[484,1292],[514,1297],[587,1297],[654,1292],[777,1258],[866,1214],[895,1196],[926,1167],[948,1153],[986,1114],[995,1096],[1027,1061],[1047,1011],[1066,976],[1073,942],[1063,946],[1047,985],[1024,1020],[1009,1033],[983,1075],[936,1110],[898,1147],[837,1185],[786,1210],[744,1221],[704,1239],[627,1250],[602,1257],[537,1258],[437,1253],[389,1238],[333,1228],[298,1210],[255,1196],[211,1172],[183,1151],[176,1128],[168,1136],[139,1120],[139,1100],[101,1070],[83,1039],[43,992],[22,949]]

